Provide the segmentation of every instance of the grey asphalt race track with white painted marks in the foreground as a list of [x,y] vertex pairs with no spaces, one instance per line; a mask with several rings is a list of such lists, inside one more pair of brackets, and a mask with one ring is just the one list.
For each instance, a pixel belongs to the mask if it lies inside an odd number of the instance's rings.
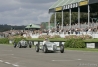
[[0,45],[0,67],[98,67],[98,52],[36,53],[34,48]]

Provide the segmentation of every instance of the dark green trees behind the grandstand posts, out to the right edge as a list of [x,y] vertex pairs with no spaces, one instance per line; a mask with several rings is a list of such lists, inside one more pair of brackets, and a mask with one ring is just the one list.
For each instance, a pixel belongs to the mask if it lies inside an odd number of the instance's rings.
[[[66,26],[66,24],[69,24],[70,19],[69,19],[69,12],[64,12],[63,13],[63,23]],[[90,13],[90,21],[92,21],[91,18],[98,18],[98,12],[96,13]],[[50,18],[50,22],[54,23],[55,20],[55,15],[52,14]],[[80,13],[80,23],[88,22],[88,13]],[[60,25],[62,24],[62,12],[57,12],[56,13],[56,22],[59,23]],[[78,23],[78,12],[72,12],[71,14],[71,22],[72,24]]]

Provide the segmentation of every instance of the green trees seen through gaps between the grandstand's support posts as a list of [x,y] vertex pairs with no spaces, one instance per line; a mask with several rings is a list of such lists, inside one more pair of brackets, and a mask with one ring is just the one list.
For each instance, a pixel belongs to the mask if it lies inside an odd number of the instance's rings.
[[[69,24],[69,12],[64,12],[64,25],[66,25],[66,24]],[[78,23],[78,12],[72,12],[72,16],[71,16],[72,18],[71,18],[71,24],[75,24],[75,23]],[[87,16],[87,13],[81,13],[80,14],[80,19],[81,19],[81,23],[83,23],[83,22],[87,22],[87,18],[88,16]],[[52,16],[51,16],[51,19],[50,19],[50,22],[51,23],[54,23],[54,19],[55,19],[55,15],[54,14],[52,14]],[[62,13],[61,12],[57,12],[56,13],[56,23],[59,23],[60,25],[62,24]]]

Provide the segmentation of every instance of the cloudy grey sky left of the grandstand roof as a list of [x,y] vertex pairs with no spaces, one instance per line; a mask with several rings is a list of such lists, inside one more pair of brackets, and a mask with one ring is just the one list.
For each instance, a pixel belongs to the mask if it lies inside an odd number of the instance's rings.
[[49,8],[57,0],[0,0],[0,24],[28,25],[49,21]]

